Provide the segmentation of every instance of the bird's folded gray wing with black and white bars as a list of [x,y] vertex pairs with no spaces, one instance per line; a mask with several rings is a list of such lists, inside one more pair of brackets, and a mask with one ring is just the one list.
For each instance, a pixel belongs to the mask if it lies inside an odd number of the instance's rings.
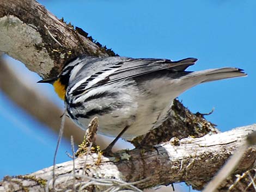
[[193,65],[197,59],[186,58],[178,61],[168,59],[122,59],[114,65],[111,65],[102,71],[95,72],[85,82],[72,90],[72,95],[78,96],[97,86],[112,84],[120,80],[129,79],[147,73],[173,69],[184,71],[188,66]]

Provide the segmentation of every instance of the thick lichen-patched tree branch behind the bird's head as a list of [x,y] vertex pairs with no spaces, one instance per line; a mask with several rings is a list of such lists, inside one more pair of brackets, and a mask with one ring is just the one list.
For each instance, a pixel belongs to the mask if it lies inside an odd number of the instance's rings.
[[33,0],[1,0],[0,29],[0,50],[42,77],[57,75],[79,54],[115,55]]

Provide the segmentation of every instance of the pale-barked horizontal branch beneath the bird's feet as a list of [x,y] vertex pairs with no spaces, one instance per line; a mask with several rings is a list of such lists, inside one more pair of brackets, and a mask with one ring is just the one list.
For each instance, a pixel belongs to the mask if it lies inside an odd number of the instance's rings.
[[[79,157],[75,159],[76,184],[82,185],[83,182],[102,184],[103,181],[100,178],[114,178],[125,182],[146,179],[144,182],[136,184],[136,187],[144,189],[184,181],[192,185],[194,189],[201,190],[221,168],[225,160],[245,143],[247,135],[253,131],[256,131],[256,125],[205,135],[202,138],[185,138],[175,141],[172,139],[165,144],[156,146],[156,150],[123,151],[118,153],[118,156],[111,158],[95,153]],[[248,170],[253,171],[255,159],[256,147],[253,146],[248,148],[234,174],[225,181],[225,184],[234,184],[234,179],[237,179],[236,174],[242,174]],[[72,170],[72,161],[57,165],[56,188],[62,188],[62,191],[73,188],[74,173]],[[26,176],[5,177],[0,183],[0,191],[8,191],[8,189],[11,189],[9,191],[21,191],[23,188],[29,191],[44,191],[46,182],[50,181],[51,177],[52,167]],[[94,181],[92,178],[96,178],[96,180]],[[247,182],[251,182],[251,180],[247,178]],[[114,183],[113,181],[113,185],[115,185]],[[249,183],[247,183],[248,185]],[[238,191],[236,190],[237,186],[240,187],[240,185],[234,185],[230,191]],[[51,184],[48,187],[51,189]],[[93,187],[93,190],[102,191],[108,187],[97,185],[97,187]],[[224,185],[224,187],[222,185],[218,191],[227,191],[229,187],[230,185]]]

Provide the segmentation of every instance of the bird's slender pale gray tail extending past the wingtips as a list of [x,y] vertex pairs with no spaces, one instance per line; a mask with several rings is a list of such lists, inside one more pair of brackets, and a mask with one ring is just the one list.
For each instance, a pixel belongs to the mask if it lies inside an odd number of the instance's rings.
[[242,69],[234,68],[234,67],[225,67],[221,69],[209,69],[204,71],[192,72],[188,74],[186,77],[195,77],[199,78],[202,77],[202,81],[204,82],[211,82],[214,80],[221,80],[221,79],[228,79],[234,77],[243,77],[247,76]]

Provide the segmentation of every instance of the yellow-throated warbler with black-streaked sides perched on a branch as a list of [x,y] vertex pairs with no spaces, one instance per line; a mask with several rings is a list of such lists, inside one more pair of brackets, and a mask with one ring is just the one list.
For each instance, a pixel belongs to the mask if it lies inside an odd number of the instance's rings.
[[131,140],[159,126],[173,100],[192,86],[246,76],[233,67],[185,71],[196,61],[81,56],[66,64],[57,77],[39,82],[53,83],[68,115],[82,129],[98,116],[101,134],[117,137],[120,133],[119,137]]

